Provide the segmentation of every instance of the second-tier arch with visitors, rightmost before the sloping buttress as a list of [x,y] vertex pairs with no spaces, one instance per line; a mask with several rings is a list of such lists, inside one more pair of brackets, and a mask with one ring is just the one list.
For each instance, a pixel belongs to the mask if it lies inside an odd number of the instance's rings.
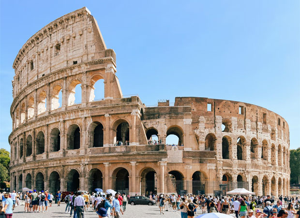
[[114,145],[117,145],[117,142],[119,142],[119,144],[120,142],[122,142],[120,145],[125,145],[126,142],[129,144],[131,125],[128,120],[124,118],[117,119],[114,121],[112,127],[113,130],[116,131],[116,137],[114,137]]

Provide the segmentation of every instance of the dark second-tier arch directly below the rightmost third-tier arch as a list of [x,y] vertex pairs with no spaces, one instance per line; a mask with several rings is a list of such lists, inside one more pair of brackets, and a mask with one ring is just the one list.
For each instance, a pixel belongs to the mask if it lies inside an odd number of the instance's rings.
[[89,147],[103,147],[104,126],[99,121],[94,121],[88,128]]

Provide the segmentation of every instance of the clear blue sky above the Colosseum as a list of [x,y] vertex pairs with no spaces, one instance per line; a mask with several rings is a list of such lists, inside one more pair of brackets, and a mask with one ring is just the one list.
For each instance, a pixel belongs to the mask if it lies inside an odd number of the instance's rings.
[[117,54],[124,95],[146,105],[196,96],[283,116],[300,146],[299,0],[0,0],[0,147],[10,150],[13,61],[22,45],[86,6]]

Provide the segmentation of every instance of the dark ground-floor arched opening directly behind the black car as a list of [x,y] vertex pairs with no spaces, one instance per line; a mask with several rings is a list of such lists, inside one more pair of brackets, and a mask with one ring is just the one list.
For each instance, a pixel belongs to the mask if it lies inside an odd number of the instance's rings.
[[141,194],[145,194],[148,197],[150,194],[157,193],[157,177],[156,172],[152,168],[143,170],[141,174]]

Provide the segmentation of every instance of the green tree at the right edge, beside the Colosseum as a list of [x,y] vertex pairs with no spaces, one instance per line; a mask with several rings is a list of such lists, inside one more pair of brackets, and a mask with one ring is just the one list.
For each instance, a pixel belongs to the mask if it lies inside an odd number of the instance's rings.
[[290,150],[291,184],[298,184],[300,177],[300,147]]

